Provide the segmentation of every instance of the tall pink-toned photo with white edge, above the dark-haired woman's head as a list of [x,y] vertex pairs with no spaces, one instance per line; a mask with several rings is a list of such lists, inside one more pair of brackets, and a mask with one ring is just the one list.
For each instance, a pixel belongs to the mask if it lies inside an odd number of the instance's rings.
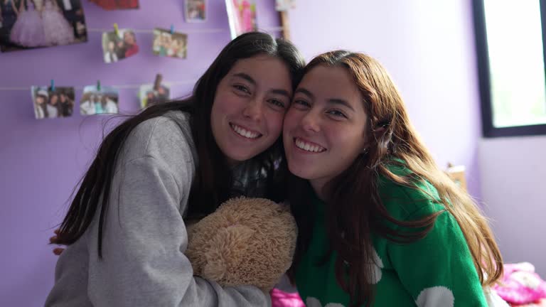
[[255,0],[225,0],[231,38],[257,31]]

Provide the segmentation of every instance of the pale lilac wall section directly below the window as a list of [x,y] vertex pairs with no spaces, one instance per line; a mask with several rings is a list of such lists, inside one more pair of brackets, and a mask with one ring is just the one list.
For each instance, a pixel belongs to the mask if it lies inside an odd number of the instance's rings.
[[483,139],[482,195],[505,262],[531,262],[546,279],[546,136]]

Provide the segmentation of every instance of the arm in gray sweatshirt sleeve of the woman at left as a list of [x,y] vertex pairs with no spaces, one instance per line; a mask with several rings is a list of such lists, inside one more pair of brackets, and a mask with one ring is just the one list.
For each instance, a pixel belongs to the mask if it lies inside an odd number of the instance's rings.
[[97,307],[271,306],[269,295],[255,286],[222,288],[193,276],[184,255],[188,236],[182,217],[193,161],[175,156],[181,161],[178,166],[161,154],[134,158],[125,161],[114,176],[102,259],[97,253],[98,223],[89,230],[87,293],[91,303]]

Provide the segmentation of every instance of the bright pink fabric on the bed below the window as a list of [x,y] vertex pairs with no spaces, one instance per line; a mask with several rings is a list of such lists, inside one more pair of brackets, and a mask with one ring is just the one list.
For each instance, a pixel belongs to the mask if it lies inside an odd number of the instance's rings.
[[[493,289],[508,303],[519,306],[546,298],[546,282],[535,273],[528,262],[504,264],[504,276]],[[546,305],[530,305],[546,306]]]

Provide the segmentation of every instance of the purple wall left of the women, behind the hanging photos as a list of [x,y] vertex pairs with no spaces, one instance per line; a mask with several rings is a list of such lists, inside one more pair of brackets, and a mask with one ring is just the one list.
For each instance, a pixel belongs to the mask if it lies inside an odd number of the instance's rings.
[[[188,32],[186,60],[158,58],[151,52],[151,33],[137,33],[141,52],[119,63],[102,62],[101,33],[90,32],[84,44],[0,54],[0,306],[42,306],[53,286],[56,257],[48,237],[62,220],[66,201],[100,142],[109,117],[34,119],[31,85],[139,85],[156,73],[173,85],[173,97],[186,95],[196,79],[230,41],[225,2],[210,0],[206,23],[185,23],[183,1],[141,0],[136,11],[104,11],[82,0],[88,28],[151,30],[154,27]],[[279,26],[274,0],[258,2],[260,28]],[[220,29],[217,33],[192,30]],[[81,90],[76,90],[79,101]],[[119,107],[139,108],[137,89],[119,91]]]

